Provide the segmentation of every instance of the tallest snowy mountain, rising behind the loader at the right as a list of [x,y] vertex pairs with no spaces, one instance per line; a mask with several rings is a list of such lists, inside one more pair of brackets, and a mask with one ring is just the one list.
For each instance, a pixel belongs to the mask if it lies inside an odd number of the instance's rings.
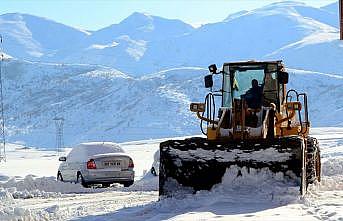
[[[228,60],[270,59],[270,54],[308,36],[338,34],[337,28],[329,25],[335,16],[329,15],[324,9],[297,2],[279,2],[237,13],[223,22],[203,25],[188,35],[151,43],[138,61],[138,73],[177,66],[207,66]],[[330,51],[330,48],[325,49]],[[341,52],[341,48],[331,52],[336,56],[332,62],[339,63]],[[291,62],[292,57],[287,54],[274,57],[289,60],[289,66],[305,69],[306,62],[302,67],[302,60]],[[313,66],[316,59],[318,57],[312,59]],[[337,73],[339,68],[335,66],[332,69]],[[310,70],[324,71],[315,67]]]

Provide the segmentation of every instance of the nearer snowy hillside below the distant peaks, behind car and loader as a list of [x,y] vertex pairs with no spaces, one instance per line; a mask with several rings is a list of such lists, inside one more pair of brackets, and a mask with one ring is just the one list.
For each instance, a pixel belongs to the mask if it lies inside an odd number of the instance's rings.
[[[65,118],[66,145],[200,133],[189,104],[203,102],[208,92],[203,86],[207,73],[203,68],[183,67],[131,77],[103,66],[12,60],[5,62],[3,71],[6,126],[12,142],[53,147],[55,116]],[[289,71],[288,88],[309,95],[313,125],[342,126],[343,77]]]

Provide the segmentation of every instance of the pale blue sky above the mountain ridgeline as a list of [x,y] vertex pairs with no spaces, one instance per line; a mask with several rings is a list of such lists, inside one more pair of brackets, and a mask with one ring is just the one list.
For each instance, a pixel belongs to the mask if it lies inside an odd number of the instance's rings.
[[[73,27],[97,30],[119,23],[133,12],[181,19],[198,26],[280,0],[0,0],[0,14],[20,12]],[[337,0],[298,0],[321,7]]]

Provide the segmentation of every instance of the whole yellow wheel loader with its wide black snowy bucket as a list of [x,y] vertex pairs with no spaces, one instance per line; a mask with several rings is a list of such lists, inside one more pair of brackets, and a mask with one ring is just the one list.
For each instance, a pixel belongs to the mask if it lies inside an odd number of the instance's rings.
[[[210,190],[231,166],[283,172],[297,181],[302,195],[308,184],[320,182],[320,150],[309,136],[307,95],[286,89],[289,75],[282,61],[225,63],[221,71],[210,65],[209,71],[205,102],[190,104],[206,138],[160,144],[160,196]],[[215,75],[222,82],[217,91]]]

